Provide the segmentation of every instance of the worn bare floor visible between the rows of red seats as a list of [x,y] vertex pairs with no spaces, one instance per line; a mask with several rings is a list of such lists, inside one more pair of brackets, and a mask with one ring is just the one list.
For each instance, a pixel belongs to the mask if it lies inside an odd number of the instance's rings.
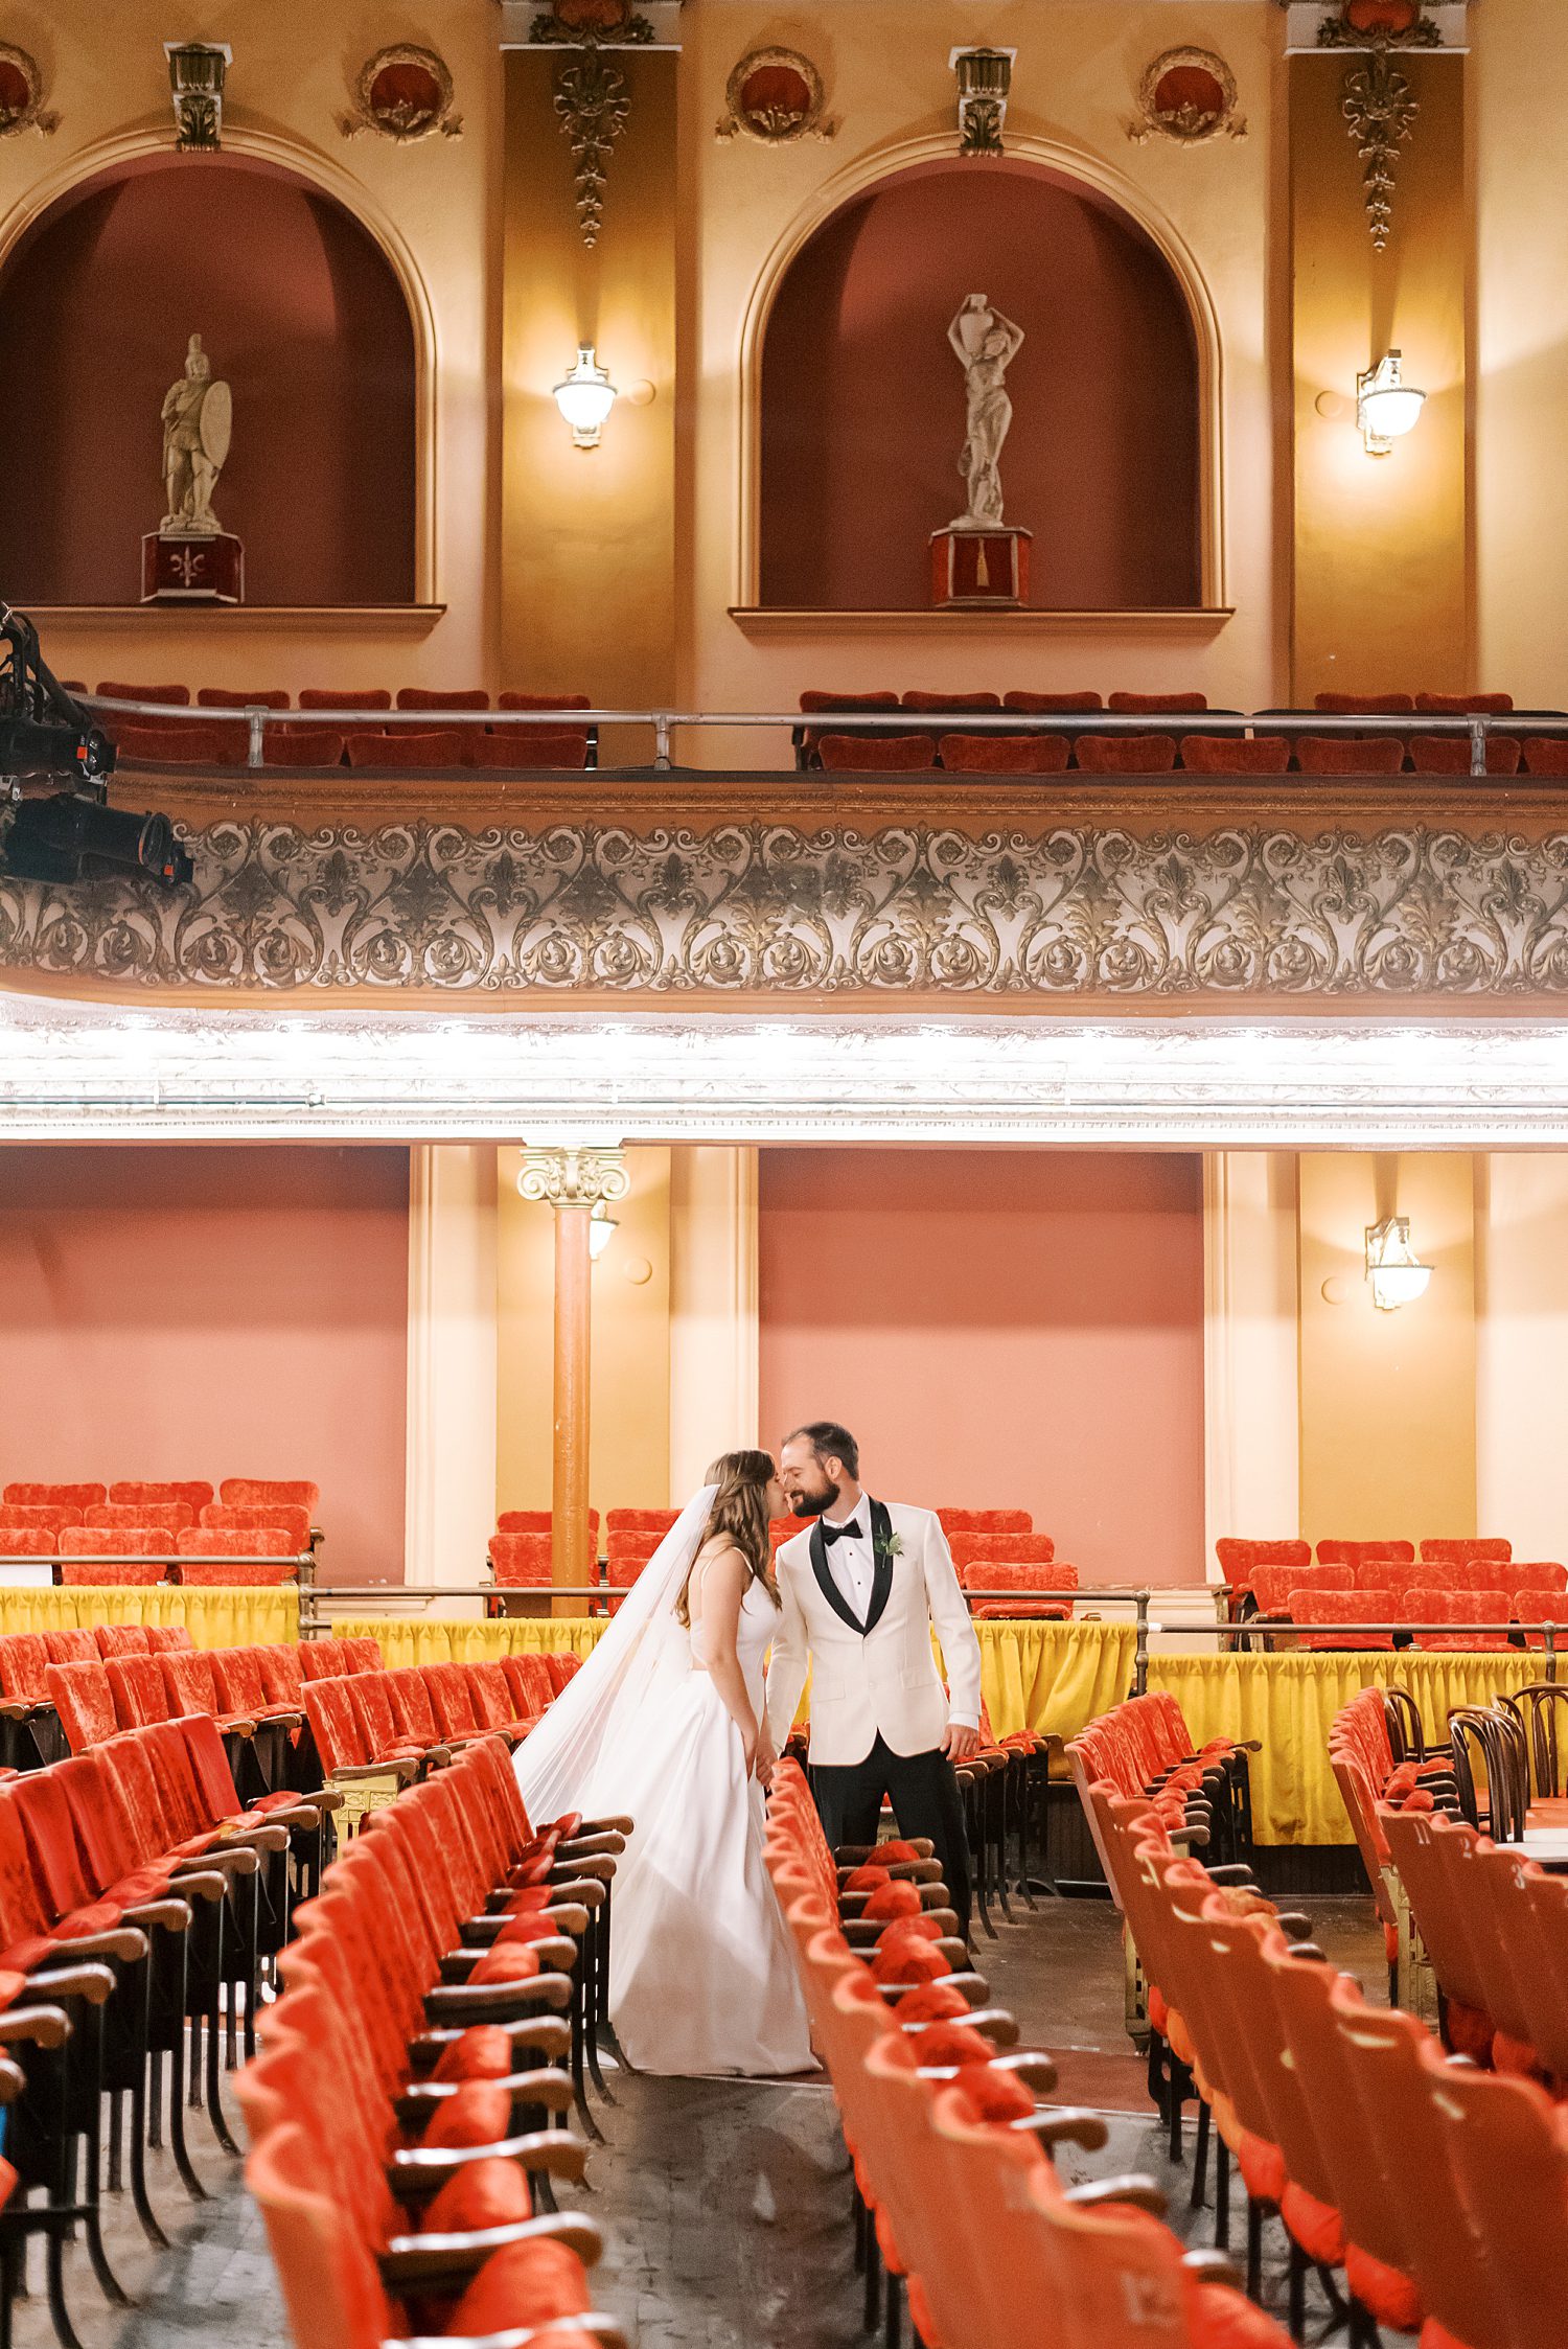
[[[1385,1997],[1371,1900],[1300,1903],[1333,1964]],[[1120,1926],[1108,1903],[1049,1900],[984,1943],[976,1959],[1023,2044],[1059,2062],[1059,2100],[1099,2105],[1103,2152],[1063,2152],[1063,2175],[1150,2173],[1171,2194],[1169,2217],[1190,2241],[1214,2241],[1214,2213],[1188,2208],[1188,2173],[1171,2168],[1143,2093],[1143,2067],[1122,2027]],[[657,2081],[610,2074],[584,2206],[608,2236],[596,2304],[638,2349],[857,2349],[859,2297],[850,2255],[850,2182],[822,2081]],[[230,2098],[232,2107],[232,2098]],[[265,2234],[192,2114],[192,2152],[211,2199],[190,2206],[167,2154],[150,2156],[153,2203],[174,2248],[153,2253],[110,2199],[110,2260],[138,2307],[110,2309],[80,2248],[68,2300],[85,2349],[277,2349],[286,2340]],[[1277,2236],[1277,2229],[1270,2229]],[[1237,2225],[1232,2241],[1242,2241]],[[33,2253],[38,2262],[40,2253]],[[1270,2300],[1282,2304],[1270,2257]],[[1319,2309],[1322,2316],[1322,2309]],[[1317,2326],[1314,2326],[1317,2330]],[[49,2349],[42,2297],[16,2311],[16,2349]]]

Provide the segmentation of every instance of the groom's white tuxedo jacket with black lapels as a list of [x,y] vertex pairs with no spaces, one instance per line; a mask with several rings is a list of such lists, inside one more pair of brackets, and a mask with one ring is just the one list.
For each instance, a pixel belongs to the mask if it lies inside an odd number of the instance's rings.
[[[946,1534],[930,1508],[869,1501],[876,1571],[866,1623],[854,1618],[829,1567],[822,1520],[777,1553],[779,1630],[768,1668],[768,1727],[782,1750],[805,1675],[812,1675],[812,1762],[864,1762],[878,1734],[897,1755],[941,1745],[948,1698],[932,1656],[932,1626],[953,1691],[951,1710],[979,1719],[981,1656]],[[887,1555],[887,1541],[899,1553]]]

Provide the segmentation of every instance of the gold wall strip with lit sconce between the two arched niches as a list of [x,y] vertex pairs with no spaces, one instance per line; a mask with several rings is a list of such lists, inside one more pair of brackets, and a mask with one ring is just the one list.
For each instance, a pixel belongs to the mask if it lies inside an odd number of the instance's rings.
[[[554,113],[561,52],[509,52],[502,331],[502,684],[669,707],[676,693],[676,59],[617,52],[631,110],[599,244]],[[573,449],[552,385],[596,343],[617,390]],[[615,754],[615,752],[610,752]],[[634,756],[648,756],[648,740]]]

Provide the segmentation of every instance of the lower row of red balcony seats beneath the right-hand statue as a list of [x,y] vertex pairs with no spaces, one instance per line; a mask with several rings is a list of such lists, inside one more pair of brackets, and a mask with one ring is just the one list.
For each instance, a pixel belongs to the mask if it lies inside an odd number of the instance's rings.
[[[815,761],[845,775],[1469,775],[1467,735],[822,733]],[[1488,735],[1486,773],[1568,775],[1563,735]]]

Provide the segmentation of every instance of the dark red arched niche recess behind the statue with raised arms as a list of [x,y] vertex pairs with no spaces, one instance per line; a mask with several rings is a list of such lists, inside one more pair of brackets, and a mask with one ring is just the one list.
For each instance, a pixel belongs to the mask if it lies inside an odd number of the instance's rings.
[[786,265],[761,364],[765,606],[918,611],[962,510],[948,319],[986,294],[1026,331],[1007,373],[1007,521],[1030,604],[1204,601],[1202,369],[1155,240],[1063,171],[925,162],[845,202]]

